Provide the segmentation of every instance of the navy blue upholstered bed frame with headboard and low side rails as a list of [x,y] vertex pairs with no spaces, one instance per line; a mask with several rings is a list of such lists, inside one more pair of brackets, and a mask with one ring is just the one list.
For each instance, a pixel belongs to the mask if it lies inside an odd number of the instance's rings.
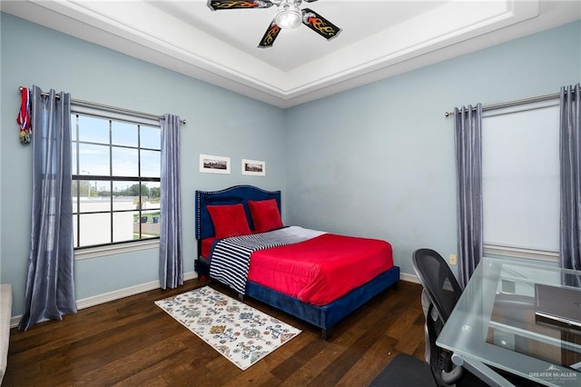
[[[195,236],[198,240],[198,253],[200,254],[202,252],[202,239],[214,235],[212,218],[206,208],[208,205],[241,203],[244,206],[248,223],[251,229],[253,229],[251,213],[247,202],[249,200],[267,199],[275,199],[279,204],[279,209],[281,209],[281,191],[264,191],[252,185],[235,185],[222,191],[196,191]],[[209,276],[209,263],[201,256],[196,260],[194,266],[198,275]],[[375,295],[383,292],[398,281],[399,267],[393,266],[387,272],[381,273],[369,281],[369,283],[364,283],[340,299],[323,306],[303,303],[296,298],[250,281],[246,284],[246,295],[319,327],[321,329],[321,336],[324,339],[328,339],[333,325],[339,323],[341,319],[358,309],[359,306],[367,303]],[[243,294],[239,294],[239,296],[241,297]]]

